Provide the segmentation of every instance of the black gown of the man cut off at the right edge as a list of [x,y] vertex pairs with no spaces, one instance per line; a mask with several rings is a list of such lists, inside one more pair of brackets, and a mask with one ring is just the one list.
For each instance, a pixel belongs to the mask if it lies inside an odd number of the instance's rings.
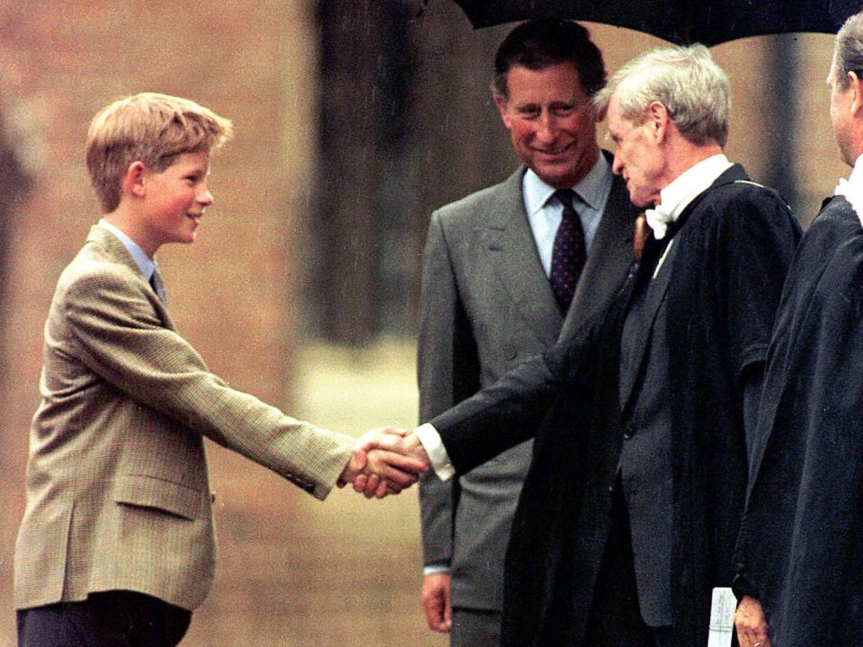
[[774,647],[863,644],[863,227],[825,202],[788,275],[735,560]]

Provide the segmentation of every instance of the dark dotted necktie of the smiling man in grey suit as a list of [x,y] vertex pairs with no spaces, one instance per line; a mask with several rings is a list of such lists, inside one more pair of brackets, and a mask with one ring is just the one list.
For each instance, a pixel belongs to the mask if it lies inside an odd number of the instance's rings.
[[587,245],[584,243],[582,221],[573,208],[573,199],[580,199],[574,191],[555,191],[555,198],[564,206],[564,217],[560,220],[551,250],[551,273],[548,280],[555,294],[560,311],[566,313],[573,301],[575,284],[582,275],[587,260]]

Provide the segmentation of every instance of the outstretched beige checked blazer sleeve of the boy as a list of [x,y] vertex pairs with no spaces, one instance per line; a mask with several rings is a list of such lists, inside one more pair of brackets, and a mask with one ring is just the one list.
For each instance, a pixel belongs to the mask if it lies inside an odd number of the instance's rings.
[[353,439],[227,386],[120,273],[86,273],[71,281],[62,299],[67,342],[94,374],[319,499],[332,489]]

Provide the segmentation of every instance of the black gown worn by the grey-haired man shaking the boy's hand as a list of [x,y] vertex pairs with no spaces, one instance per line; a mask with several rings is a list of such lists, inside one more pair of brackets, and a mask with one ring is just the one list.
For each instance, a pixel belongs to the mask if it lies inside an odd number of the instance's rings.
[[[730,586],[748,471],[743,383],[761,370],[799,226],[774,191],[735,165],[681,214],[667,292],[676,644],[707,643],[711,589]],[[662,244],[601,318],[564,345],[432,420],[466,471],[544,419],[512,527],[503,647],[572,647],[609,536],[623,430],[620,335]],[[609,609],[614,613],[614,609]]]

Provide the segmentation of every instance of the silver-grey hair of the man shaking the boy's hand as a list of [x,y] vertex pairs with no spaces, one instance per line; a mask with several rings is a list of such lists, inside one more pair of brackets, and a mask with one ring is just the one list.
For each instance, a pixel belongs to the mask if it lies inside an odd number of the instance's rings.
[[627,120],[643,122],[650,104],[660,102],[693,144],[725,146],[728,139],[731,86],[704,45],[651,49],[633,58],[594,96],[597,114],[605,114],[612,96]]

